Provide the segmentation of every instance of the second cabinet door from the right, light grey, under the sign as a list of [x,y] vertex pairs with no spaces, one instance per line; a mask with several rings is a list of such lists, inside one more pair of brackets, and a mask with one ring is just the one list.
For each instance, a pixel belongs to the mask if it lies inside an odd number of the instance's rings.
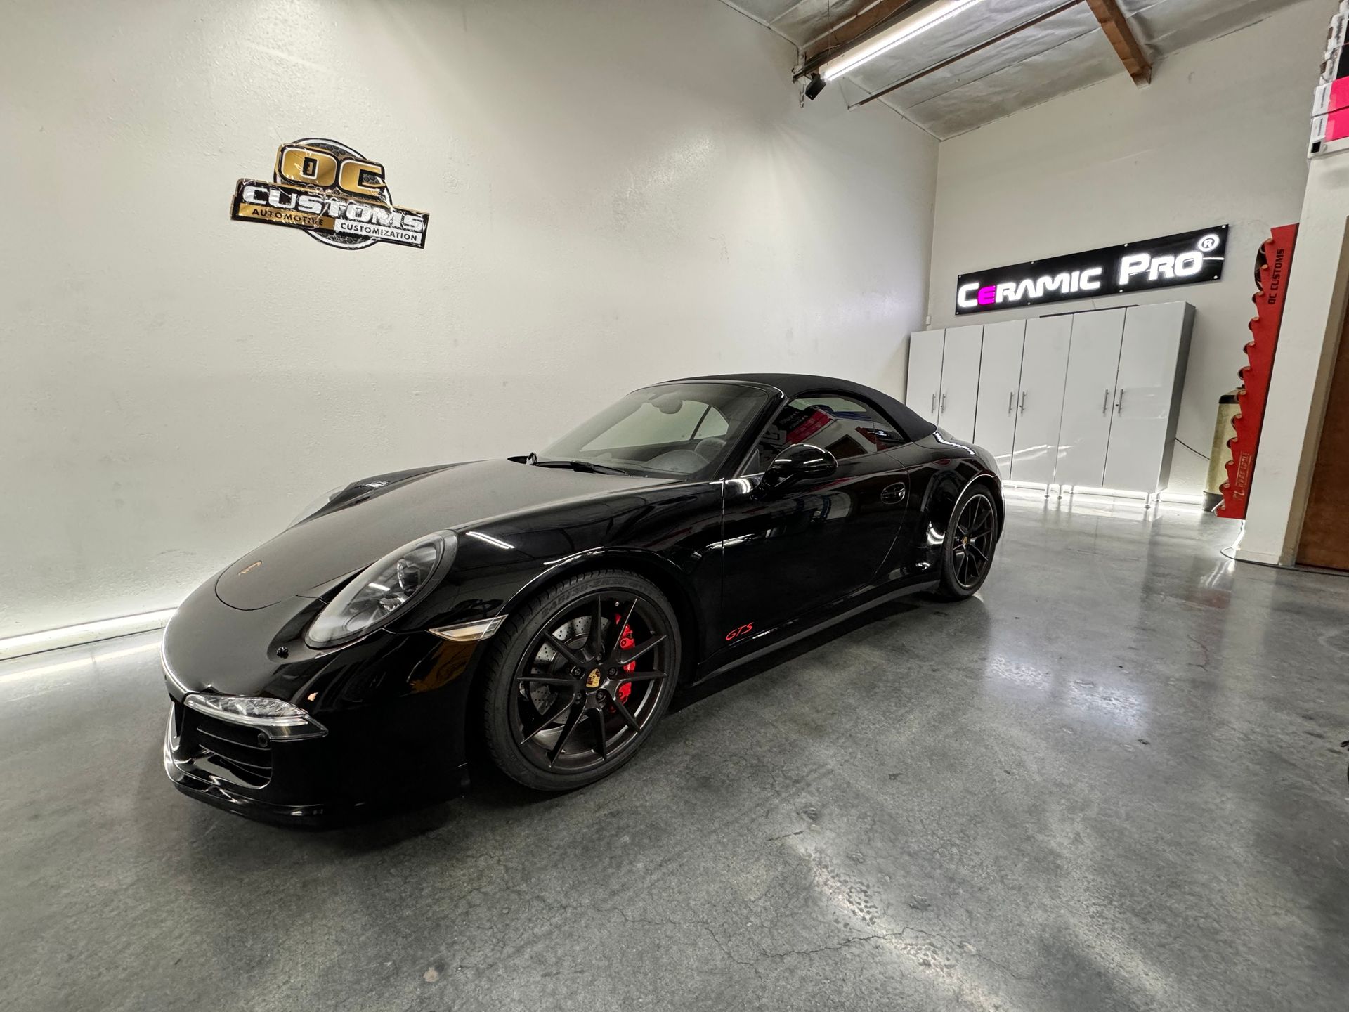
[[1099,488],[1105,483],[1105,448],[1110,441],[1122,333],[1122,309],[1072,314],[1072,345],[1059,426],[1059,468],[1054,478],[1059,484]]

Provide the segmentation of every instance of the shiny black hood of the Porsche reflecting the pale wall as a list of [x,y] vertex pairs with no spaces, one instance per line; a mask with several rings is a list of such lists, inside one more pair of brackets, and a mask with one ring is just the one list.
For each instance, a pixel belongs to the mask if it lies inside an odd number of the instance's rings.
[[220,573],[216,596],[248,611],[295,595],[322,596],[425,534],[668,480],[673,479],[596,475],[513,460],[478,460],[418,474],[325,507],[283,530]]

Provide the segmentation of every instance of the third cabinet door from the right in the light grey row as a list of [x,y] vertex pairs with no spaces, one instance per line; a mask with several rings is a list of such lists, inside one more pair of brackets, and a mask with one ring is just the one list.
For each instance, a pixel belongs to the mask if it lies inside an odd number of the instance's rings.
[[1063,374],[1068,367],[1072,317],[1051,316],[1025,321],[1021,352],[1021,393],[1017,395],[1012,443],[1012,480],[1048,484],[1059,449],[1063,410]]

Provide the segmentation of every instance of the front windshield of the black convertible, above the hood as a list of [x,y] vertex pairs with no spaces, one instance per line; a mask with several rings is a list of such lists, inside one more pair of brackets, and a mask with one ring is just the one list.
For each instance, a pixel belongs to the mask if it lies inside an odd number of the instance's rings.
[[656,478],[707,478],[772,395],[738,383],[661,383],[634,390],[538,455],[542,466]]

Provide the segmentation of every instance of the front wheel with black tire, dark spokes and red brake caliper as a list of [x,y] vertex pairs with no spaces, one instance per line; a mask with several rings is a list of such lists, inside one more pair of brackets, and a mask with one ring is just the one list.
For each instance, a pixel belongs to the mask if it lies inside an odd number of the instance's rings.
[[492,762],[537,791],[608,776],[665,715],[680,657],[674,609],[646,578],[602,569],[548,588],[492,637],[483,691]]

